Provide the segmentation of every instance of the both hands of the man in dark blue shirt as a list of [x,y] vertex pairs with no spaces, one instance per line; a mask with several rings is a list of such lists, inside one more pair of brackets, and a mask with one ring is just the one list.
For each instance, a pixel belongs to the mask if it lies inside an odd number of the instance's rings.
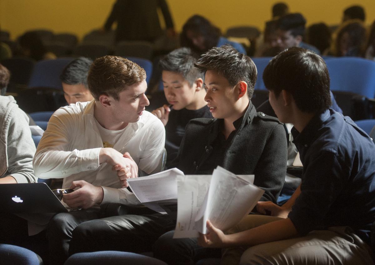
[[[289,208],[278,206],[273,202],[258,202],[256,209],[260,214],[281,218],[288,218],[290,212]],[[199,233],[198,244],[201,247],[228,248],[235,245],[235,242],[231,240],[233,237],[214,227],[210,220],[207,220],[207,229],[209,231],[207,234]]]

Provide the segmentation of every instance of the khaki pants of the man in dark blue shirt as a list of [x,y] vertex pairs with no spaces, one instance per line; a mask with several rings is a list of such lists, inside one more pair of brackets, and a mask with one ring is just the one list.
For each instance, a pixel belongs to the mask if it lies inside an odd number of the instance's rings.
[[[241,232],[280,219],[265,215],[248,215],[226,234]],[[355,235],[350,227],[337,226],[329,227],[327,230],[315,230],[306,236],[253,247],[223,249],[221,264],[367,265],[374,264],[374,261],[370,247]]]

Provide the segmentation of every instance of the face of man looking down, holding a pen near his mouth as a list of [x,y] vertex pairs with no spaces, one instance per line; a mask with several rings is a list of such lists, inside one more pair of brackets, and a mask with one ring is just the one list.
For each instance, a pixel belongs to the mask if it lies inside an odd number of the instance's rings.
[[174,110],[195,109],[195,84],[191,87],[182,74],[171,71],[162,72],[162,81],[165,98]]

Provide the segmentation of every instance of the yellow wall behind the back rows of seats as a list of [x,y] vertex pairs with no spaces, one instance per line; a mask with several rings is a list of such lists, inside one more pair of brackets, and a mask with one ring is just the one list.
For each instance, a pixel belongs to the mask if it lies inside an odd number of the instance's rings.
[[[136,1],[136,0],[133,0]],[[357,0],[358,1],[358,0]],[[72,32],[82,37],[101,27],[115,0],[0,0],[0,26],[15,39],[26,30],[52,29],[55,33]],[[235,25],[254,25],[263,29],[271,16],[270,9],[278,0],[167,0],[180,31],[193,14],[207,17],[225,32]],[[324,21],[337,24],[342,11],[354,4],[366,9],[366,24],[375,20],[374,0],[287,0],[291,12],[301,12],[308,24]],[[215,4],[213,4],[215,3]]]

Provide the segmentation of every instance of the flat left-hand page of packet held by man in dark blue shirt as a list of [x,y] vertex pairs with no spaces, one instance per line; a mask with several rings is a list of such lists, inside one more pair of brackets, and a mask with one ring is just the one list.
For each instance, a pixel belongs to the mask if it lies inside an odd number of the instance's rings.
[[205,201],[211,175],[186,175],[177,178],[177,222],[173,238],[198,236],[195,216]]

